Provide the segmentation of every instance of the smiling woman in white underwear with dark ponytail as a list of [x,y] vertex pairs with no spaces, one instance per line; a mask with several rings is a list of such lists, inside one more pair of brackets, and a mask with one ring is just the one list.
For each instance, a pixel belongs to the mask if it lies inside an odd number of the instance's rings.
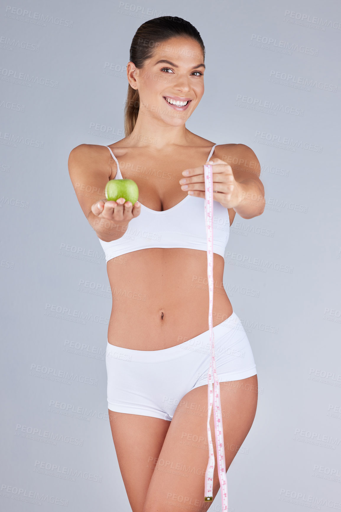
[[[256,414],[255,361],[223,288],[223,270],[236,212],[243,219],[261,215],[264,188],[249,147],[217,145],[185,126],[204,92],[204,55],[199,32],[182,18],[162,16],[141,25],[127,65],[125,137],[110,146],[81,144],[69,158],[80,206],[106,255],[112,290],[108,410],[133,512],[174,510],[180,503],[200,511],[211,504],[203,501],[210,367],[203,175],[208,160],[226,471]],[[139,201],[106,201],[107,181],[125,178],[137,183]],[[213,414],[210,424],[216,458]],[[218,489],[216,463],[213,498]]]

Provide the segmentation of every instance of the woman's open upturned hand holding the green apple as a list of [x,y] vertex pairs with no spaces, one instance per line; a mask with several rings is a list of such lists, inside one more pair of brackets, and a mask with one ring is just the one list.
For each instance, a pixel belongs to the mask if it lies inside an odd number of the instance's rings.
[[134,217],[141,213],[141,203],[138,201],[134,205],[120,197],[117,201],[97,201],[91,207],[91,211],[96,217],[115,222],[115,224],[127,224]]

